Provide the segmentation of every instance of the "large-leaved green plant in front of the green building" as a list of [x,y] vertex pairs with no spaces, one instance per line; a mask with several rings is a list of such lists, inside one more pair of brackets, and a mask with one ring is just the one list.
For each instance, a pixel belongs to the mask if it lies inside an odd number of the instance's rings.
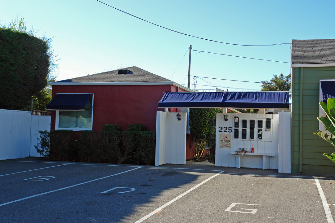
[[[314,132],[314,134],[335,146],[335,98],[328,98],[327,103],[320,102],[320,107],[324,110],[327,117],[320,116],[318,117],[318,120],[330,132],[330,135],[327,132],[320,130]],[[323,155],[335,163],[335,152],[331,155],[328,153],[324,153]]]

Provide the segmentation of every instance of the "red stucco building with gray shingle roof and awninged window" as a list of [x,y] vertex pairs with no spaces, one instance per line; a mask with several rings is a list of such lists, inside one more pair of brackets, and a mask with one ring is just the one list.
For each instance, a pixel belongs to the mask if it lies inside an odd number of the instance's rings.
[[[99,132],[103,131],[103,124],[118,124],[121,131],[127,131],[130,124],[142,124],[147,131],[155,131],[156,111],[163,111],[157,108],[157,104],[164,92],[193,92],[138,67],[53,82],[50,85],[53,97],[48,106],[52,111],[51,130]],[[78,103],[83,106],[74,105]],[[171,112],[180,112],[180,109],[171,109]]]

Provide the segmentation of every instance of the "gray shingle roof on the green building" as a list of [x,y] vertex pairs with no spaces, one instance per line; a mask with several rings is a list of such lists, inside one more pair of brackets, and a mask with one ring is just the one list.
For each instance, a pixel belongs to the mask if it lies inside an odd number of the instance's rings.
[[334,64],[335,39],[292,39],[291,64]]

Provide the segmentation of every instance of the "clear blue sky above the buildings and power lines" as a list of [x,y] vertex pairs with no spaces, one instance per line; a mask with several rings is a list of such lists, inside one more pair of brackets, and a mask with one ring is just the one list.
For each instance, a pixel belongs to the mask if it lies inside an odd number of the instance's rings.
[[[335,1],[102,1],[160,26],[227,43],[267,45],[335,38]],[[54,53],[60,59],[57,80],[137,66],[186,86],[190,44],[194,50],[290,62],[290,44],[252,47],[197,39],[96,0],[1,3],[2,24],[21,16],[28,28],[54,36]],[[193,76],[260,82],[281,73],[289,74],[290,64],[192,51],[191,89]],[[228,91],[261,89],[260,83],[195,80],[198,90],[214,86]]]

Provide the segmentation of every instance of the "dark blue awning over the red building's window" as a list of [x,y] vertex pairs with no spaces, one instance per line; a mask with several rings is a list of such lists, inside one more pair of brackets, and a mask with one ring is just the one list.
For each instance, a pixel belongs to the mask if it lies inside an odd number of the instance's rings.
[[92,93],[57,94],[47,104],[47,110],[85,110],[85,105],[92,96]]

